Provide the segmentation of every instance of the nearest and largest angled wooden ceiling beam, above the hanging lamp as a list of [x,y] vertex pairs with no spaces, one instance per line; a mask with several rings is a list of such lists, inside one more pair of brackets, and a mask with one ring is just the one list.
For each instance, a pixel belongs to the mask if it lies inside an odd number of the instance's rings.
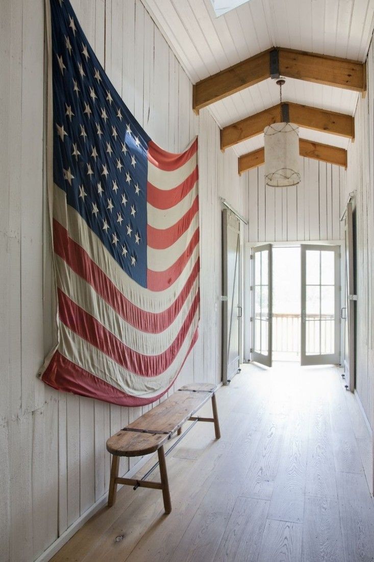
[[211,103],[270,78],[271,66],[274,78],[274,58],[271,65],[271,57],[275,51],[275,66],[277,74],[281,76],[366,92],[366,65],[362,62],[277,48],[259,53],[200,80],[193,88],[194,111],[198,113]]

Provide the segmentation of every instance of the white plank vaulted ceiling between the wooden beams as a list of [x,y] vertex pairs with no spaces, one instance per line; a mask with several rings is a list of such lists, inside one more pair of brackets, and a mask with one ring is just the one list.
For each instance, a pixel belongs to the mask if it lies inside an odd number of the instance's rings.
[[[363,62],[370,45],[374,0],[250,0],[215,17],[211,0],[146,0],[150,13],[191,81],[238,64],[272,47]],[[358,92],[286,79],[285,102],[354,115]],[[270,78],[209,105],[221,128],[279,103]],[[300,138],[346,148],[349,139],[300,127]],[[236,143],[240,155],[263,147],[263,134]]]

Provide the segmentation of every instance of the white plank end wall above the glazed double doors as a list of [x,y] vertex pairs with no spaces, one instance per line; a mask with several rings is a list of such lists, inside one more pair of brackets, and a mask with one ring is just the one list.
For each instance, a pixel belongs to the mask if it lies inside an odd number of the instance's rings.
[[345,170],[302,158],[298,186],[275,189],[264,183],[264,167],[243,174],[248,185],[249,242],[340,240],[345,205]]

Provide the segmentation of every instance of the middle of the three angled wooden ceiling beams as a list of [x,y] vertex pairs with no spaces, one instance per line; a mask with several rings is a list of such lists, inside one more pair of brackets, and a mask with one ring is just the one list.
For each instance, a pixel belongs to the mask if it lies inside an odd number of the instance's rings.
[[[335,111],[326,111],[317,107],[287,103],[289,121],[300,127],[314,129],[323,133],[331,133],[354,139],[354,117]],[[221,130],[221,150],[234,146],[243,140],[263,133],[264,128],[272,123],[280,122],[280,104],[269,107],[257,114],[250,115],[236,123],[227,125]]]

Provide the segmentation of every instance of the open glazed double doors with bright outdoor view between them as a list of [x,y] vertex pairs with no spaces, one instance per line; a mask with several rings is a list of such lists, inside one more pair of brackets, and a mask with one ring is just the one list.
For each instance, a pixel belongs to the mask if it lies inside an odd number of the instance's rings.
[[255,246],[250,359],[340,364],[340,246]]

